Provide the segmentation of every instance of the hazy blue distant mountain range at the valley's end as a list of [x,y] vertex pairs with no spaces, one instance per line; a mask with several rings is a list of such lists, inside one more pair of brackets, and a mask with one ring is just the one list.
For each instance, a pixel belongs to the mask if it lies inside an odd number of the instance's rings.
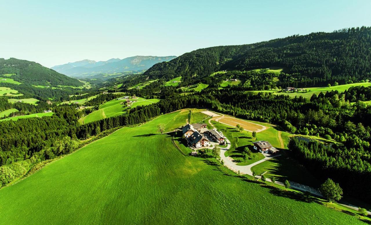
[[175,58],[176,56],[133,56],[125,59],[110,59],[99,62],[85,59],[53,66],[50,69],[71,77],[99,78],[99,76],[97,77],[99,74],[147,70],[156,63],[170,61]]

